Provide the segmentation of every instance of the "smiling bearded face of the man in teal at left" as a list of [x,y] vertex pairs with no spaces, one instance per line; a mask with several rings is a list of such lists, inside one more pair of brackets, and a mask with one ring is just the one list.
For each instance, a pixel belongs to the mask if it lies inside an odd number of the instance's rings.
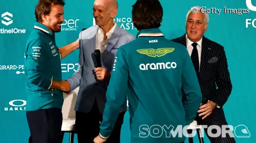
[[64,10],[63,6],[58,4],[52,4],[51,11],[47,15],[43,15],[43,24],[51,31],[51,32],[60,32],[61,31],[61,23],[64,22]]

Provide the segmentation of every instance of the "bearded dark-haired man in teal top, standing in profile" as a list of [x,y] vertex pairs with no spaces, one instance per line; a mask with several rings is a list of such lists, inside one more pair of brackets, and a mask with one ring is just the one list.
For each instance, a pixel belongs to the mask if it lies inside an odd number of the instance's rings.
[[63,93],[70,85],[62,81],[61,59],[76,50],[79,41],[58,48],[55,33],[64,22],[62,0],[39,0],[36,21],[25,49],[27,121],[34,143],[61,142]]

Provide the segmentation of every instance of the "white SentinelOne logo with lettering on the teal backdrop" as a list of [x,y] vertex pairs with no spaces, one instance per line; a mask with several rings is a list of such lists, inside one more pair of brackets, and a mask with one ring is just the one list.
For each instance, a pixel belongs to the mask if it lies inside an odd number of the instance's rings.
[[[4,12],[2,15],[1,15],[1,18],[2,18],[2,24],[6,25],[6,26],[9,26],[10,24],[13,23],[13,14],[12,13],[9,13],[9,12]],[[0,33],[1,34],[19,34],[19,33],[26,33],[26,29],[19,29],[19,28],[8,28],[8,29],[5,29],[5,28],[1,28],[0,29]]]

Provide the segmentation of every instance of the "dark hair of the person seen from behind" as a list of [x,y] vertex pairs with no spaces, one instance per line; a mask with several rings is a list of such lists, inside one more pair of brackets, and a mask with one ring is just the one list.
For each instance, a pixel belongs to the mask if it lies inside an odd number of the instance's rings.
[[159,28],[163,13],[158,0],[137,0],[132,6],[132,22],[138,30]]

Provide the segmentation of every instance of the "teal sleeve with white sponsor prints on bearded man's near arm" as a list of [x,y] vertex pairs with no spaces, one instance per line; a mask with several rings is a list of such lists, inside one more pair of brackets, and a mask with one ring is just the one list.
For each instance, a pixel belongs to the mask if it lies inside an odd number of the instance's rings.
[[34,85],[49,89],[52,80],[43,74],[47,59],[46,44],[41,40],[33,40],[27,50],[27,79]]

